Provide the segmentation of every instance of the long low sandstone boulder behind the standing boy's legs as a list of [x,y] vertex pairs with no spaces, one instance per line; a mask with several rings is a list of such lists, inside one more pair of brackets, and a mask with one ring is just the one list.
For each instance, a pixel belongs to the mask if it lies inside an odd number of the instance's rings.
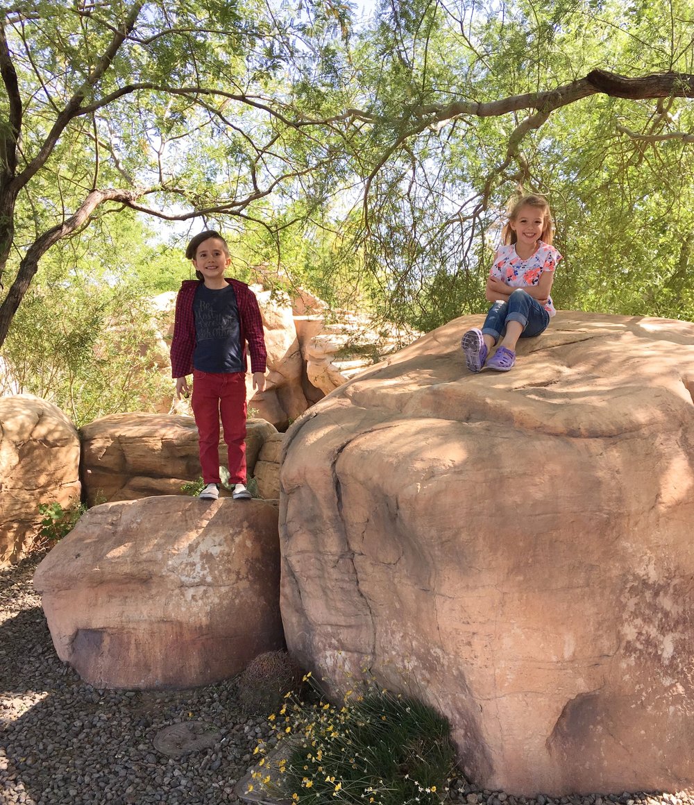
[[[253,475],[263,442],[276,432],[269,422],[248,420],[249,476]],[[81,477],[90,506],[105,501],[180,494],[181,485],[195,481],[202,472],[197,428],[191,416],[111,414],[85,425],[80,434]],[[227,463],[223,441],[219,460],[221,464]]]

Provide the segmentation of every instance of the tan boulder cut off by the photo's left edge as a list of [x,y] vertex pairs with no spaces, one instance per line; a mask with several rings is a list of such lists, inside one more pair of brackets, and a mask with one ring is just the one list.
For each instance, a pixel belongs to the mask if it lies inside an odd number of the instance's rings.
[[0,567],[31,547],[39,503],[80,500],[80,440],[60,409],[33,394],[0,398]]

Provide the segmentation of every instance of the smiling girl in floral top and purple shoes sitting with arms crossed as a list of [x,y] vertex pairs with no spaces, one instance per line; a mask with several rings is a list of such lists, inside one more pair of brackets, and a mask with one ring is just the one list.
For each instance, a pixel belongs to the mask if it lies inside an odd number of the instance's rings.
[[[523,196],[510,208],[502,242],[487,279],[486,298],[493,302],[481,330],[461,339],[465,365],[471,372],[507,372],[516,361],[518,338],[539,336],[556,310],[551,283],[561,254],[551,246],[551,212],[544,196]],[[497,351],[491,349],[502,338]]]

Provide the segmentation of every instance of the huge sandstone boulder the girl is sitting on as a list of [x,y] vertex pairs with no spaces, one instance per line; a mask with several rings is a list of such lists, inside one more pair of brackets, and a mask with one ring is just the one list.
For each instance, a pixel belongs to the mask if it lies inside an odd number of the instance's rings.
[[694,324],[560,312],[471,374],[480,323],[287,432],[289,650],[423,695],[486,788],[692,786]]

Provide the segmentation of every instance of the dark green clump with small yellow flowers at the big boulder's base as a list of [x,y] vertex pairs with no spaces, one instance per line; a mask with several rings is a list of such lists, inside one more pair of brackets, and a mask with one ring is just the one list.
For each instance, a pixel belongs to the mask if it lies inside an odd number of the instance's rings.
[[258,745],[265,756],[249,791],[257,786],[304,805],[434,805],[448,792],[450,725],[419,700],[372,689],[366,696],[347,691],[341,704],[307,705],[290,695],[270,720],[279,751],[268,757]]

